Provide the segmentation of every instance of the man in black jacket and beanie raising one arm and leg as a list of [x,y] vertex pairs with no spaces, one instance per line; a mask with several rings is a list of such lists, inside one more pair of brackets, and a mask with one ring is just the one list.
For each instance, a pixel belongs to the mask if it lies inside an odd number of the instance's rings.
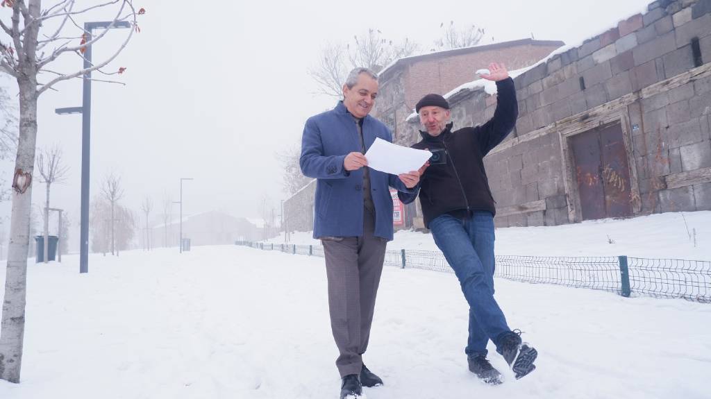
[[[496,82],[498,104],[493,118],[483,126],[451,131],[449,104],[439,94],[427,94],[417,103],[422,141],[412,148],[432,151],[429,167],[422,171],[419,201],[424,224],[432,231],[447,262],[459,278],[469,302],[469,340],[466,346],[469,370],[490,384],[501,383],[501,373],[486,359],[491,339],[516,378],[535,369],[538,353],[523,343],[520,331],[506,324],[493,297],[495,268],[493,216],[495,201],[484,170],[483,157],[510,133],[518,116],[513,80],[506,67],[489,65],[483,79]],[[402,202],[417,194],[398,193]]]

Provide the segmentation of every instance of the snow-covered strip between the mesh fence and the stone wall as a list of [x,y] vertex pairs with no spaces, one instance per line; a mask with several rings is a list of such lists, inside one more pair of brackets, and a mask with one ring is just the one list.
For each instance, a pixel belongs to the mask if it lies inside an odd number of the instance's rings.
[[[688,226],[688,227],[687,227]],[[693,233],[696,231],[696,246]],[[691,234],[691,238],[689,237]],[[610,244],[613,241],[614,244]],[[284,243],[284,236],[269,240]],[[320,245],[311,233],[292,233],[289,244]],[[431,234],[398,231],[389,249],[437,250]],[[711,261],[711,211],[652,214],[545,227],[496,229],[497,255],[634,256]]]

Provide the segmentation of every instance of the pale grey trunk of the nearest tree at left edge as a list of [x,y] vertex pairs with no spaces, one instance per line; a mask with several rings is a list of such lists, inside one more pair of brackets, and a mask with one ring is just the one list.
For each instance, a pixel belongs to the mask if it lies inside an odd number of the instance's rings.
[[[18,77],[20,129],[15,170],[32,173],[37,138],[37,84],[34,74]],[[12,192],[10,244],[8,247],[5,297],[0,332],[0,378],[20,382],[22,345],[25,333],[27,295],[27,251],[30,235],[32,186],[23,193]]]

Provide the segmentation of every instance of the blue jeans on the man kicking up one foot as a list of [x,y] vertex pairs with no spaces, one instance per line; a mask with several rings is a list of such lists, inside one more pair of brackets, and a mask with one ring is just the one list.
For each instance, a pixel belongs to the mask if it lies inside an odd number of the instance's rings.
[[442,214],[429,222],[429,229],[469,302],[469,341],[465,352],[469,356],[486,356],[488,340],[498,344],[501,334],[510,332],[506,317],[493,298],[493,215],[474,212],[469,218],[458,219]]

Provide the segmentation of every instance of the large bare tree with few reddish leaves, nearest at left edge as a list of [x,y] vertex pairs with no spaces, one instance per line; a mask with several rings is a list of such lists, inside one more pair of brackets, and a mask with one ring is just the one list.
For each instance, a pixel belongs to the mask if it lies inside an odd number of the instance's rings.
[[[101,71],[124,49],[134,31],[137,15],[132,0],[105,0],[100,4],[76,6],[75,0],[55,0],[43,9],[41,0],[2,0],[11,17],[0,16],[0,70],[15,78],[19,89],[18,144],[12,187],[10,245],[5,279],[2,325],[0,331],[0,378],[18,383],[22,364],[27,286],[27,248],[32,204],[32,175],[37,138],[37,100],[61,81],[85,77]],[[90,67],[66,72],[50,67],[64,55],[84,60],[87,47],[105,38],[109,29],[97,35],[85,31],[77,18],[88,12],[114,8],[108,28],[119,21],[129,22],[125,40],[112,55]],[[42,35],[40,35],[42,31]],[[65,65],[65,64],[63,64]],[[124,72],[105,72],[107,75]]]

